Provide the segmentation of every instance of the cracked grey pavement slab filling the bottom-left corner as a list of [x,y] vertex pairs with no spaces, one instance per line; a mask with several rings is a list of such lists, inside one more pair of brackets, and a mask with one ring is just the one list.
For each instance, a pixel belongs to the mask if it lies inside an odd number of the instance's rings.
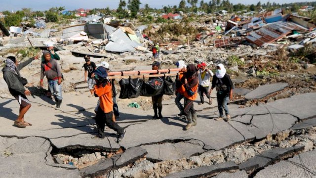
[[[0,172],[3,178],[37,178],[39,175],[45,178],[78,178],[77,169],[64,169],[50,166],[51,157],[47,156],[51,146],[49,141],[39,137],[4,138],[5,143],[13,143],[6,149],[6,157],[0,155]],[[8,141],[9,140],[9,141]],[[11,152],[12,151],[12,152]],[[17,165],[18,166],[13,166]],[[49,164],[46,164],[49,163]]]

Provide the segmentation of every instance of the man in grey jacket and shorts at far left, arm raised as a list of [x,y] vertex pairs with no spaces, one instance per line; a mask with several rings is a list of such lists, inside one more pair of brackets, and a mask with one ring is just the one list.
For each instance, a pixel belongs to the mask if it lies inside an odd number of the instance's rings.
[[8,85],[10,93],[20,104],[19,116],[17,120],[14,121],[14,125],[19,128],[32,126],[32,124],[24,121],[25,113],[31,108],[31,102],[26,96],[31,95],[31,92],[28,89],[24,89],[27,80],[21,77],[20,70],[30,64],[34,59],[38,58],[39,57],[36,56],[18,64],[18,61],[14,56],[8,56],[5,61],[5,67],[2,69],[3,79]]

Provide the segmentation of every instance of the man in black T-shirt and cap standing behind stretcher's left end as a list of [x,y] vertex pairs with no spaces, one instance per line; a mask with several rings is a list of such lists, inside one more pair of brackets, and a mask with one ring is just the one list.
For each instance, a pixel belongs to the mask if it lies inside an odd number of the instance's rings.
[[[97,66],[94,62],[90,61],[90,56],[84,56],[85,64],[84,67],[84,82],[88,82],[88,89],[90,90],[90,95],[88,97],[94,96],[94,85],[95,80],[91,78],[91,74],[94,73]],[[88,80],[87,80],[88,79]]]

